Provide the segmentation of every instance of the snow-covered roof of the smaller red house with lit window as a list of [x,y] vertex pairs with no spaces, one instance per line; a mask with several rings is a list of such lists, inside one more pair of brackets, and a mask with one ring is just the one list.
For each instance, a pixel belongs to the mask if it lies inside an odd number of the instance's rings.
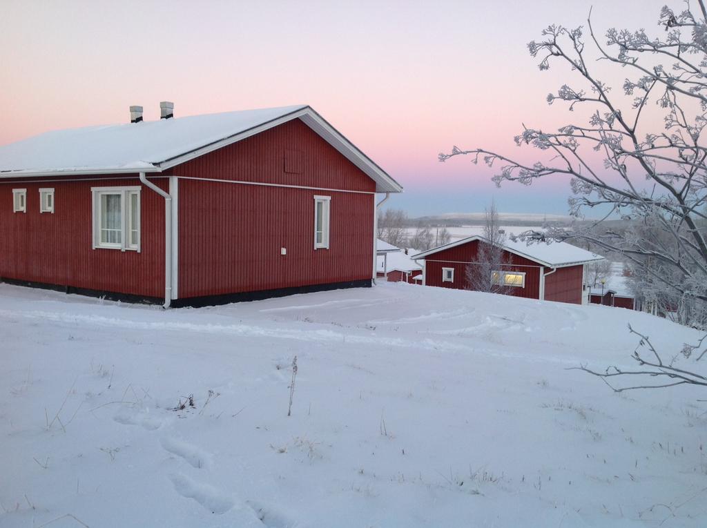
[[[431,254],[448,250],[451,247],[467,244],[468,242],[472,242],[474,240],[486,239],[479,235],[462,238],[462,240],[457,240],[456,242],[451,242],[450,244],[433,247],[431,250],[414,255],[412,258],[415,260],[425,259]],[[549,244],[546,242],[534,242],[528,245],[527,242],[523,242],[521,240],[506,240],[506,242],[503,243],[503,249],[550,268],[575,266],[577,264],[585,264],[587,262],[595,262],[597,260],[604,259],[604,257],[600,255],[583,250],[580,247],[573,246],[567,242],[550,242]]]

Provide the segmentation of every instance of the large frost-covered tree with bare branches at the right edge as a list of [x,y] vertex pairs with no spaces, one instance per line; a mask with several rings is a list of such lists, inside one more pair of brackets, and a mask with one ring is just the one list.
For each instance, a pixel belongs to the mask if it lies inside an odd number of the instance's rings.
[[515,137],[518,146],[538,149],[535,163],[456,146],[439,158],[470,155],[474,163],[498,165],[498,185],[567,178],[574,216],[598,208],[631,227],[575,226],[549,235],[620,254],[642,287],[684,307],[680,322],[705,328],[707,9],[704,0],[686,5],[662,8],[653,33],[611,28],[602,38],[590,13],[588,35],[581,27],[550,25],[542,40],[530,42],[541,70],[563,64],[574,78],[547,102],[566,104],[575,119],[556,130],[524,126]]

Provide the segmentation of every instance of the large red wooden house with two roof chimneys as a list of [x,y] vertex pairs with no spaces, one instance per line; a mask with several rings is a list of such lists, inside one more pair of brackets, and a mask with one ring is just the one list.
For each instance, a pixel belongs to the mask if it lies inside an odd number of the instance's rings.
[[370,286],[375,194],[402,187],[308,106],[0,147],[0,281],[205,305]]

